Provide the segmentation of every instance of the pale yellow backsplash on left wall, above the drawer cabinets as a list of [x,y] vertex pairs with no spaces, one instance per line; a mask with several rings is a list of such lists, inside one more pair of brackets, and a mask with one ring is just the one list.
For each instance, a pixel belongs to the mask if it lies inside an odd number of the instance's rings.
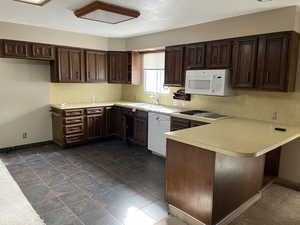
[[62,84],[49,83],[50,104],[90,103],[119,101],[122,98],[122,86],[119,84]]

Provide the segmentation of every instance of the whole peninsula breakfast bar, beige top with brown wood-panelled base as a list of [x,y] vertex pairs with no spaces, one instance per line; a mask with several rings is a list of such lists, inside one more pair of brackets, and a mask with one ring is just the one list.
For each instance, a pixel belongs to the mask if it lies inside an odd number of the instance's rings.
[[280,147],[299,136],[299,127],[235,118],[167,133],[171,214],[228,224],[260,198]]

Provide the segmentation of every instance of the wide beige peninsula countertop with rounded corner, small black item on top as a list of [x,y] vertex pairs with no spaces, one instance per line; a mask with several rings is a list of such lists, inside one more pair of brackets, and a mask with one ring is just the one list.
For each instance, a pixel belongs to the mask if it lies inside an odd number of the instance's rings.
[[[274,130],[286,128],[285,132]],[[258,157],[300,137],[300,127],[228,118],[166,133],[171,140],[235,157]]]

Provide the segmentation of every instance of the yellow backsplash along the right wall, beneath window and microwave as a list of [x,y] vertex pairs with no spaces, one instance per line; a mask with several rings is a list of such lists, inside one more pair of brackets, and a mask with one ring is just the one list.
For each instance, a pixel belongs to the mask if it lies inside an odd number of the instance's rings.
[[[230,97],[192,95],[191,101],[173,100],[173,92],[160,95],[160,104],[185,108],[209,110],[236,117],[272,121],[272,113],[277,112],[278,123],[300,125],[300,92],[281,93],[263,91],[234,91]],[[150,94],[144,93],[144,87],[123,85],[122,100],[154,103]],[[184,105],[183,105],[184,104]],[[274,122],[274,121],[273,121]]]

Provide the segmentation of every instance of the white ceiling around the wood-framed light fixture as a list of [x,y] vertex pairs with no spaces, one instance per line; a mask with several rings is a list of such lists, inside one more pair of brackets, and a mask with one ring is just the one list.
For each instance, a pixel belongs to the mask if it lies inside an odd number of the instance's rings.
[[0,1],[0,21],[29,24],[104,37],[132,37],[170,30],[217,19],[266,11],[299,0],[103,0],[136,9],[141,16],[120,24],[104,24],[75,17],[73,10],[94,0],[51,0],[43,7]]

